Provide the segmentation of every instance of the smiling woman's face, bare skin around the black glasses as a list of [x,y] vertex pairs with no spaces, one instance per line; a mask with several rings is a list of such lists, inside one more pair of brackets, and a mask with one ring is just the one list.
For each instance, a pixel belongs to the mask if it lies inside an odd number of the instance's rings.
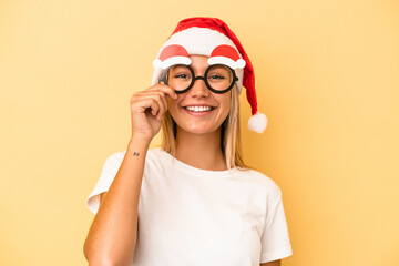
[[[190,58],[195,76],[204,75],[208,66],[208,57],[191,55]],[[232,91],[223,94],[213,93],[203,80],[196,80],[190,91],[177,94],[175,100],[168,98],[168,111],[177,124],[177,134],[216,132],[228,115],[231,95]]]

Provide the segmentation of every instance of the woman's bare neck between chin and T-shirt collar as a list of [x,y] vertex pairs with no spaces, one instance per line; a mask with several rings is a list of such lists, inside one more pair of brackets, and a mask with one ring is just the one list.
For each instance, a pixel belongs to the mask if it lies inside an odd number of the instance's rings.
[[206,134],[192,134],[177,129],[176,158],[202,170],[227,170],[221,147],[221,129]]

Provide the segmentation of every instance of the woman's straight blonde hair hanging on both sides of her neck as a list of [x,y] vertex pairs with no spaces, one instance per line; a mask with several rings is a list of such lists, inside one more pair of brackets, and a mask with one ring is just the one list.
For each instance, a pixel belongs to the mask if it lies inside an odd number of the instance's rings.
[[[232,89],[231,109],[226,120],[221,125],[221,149],[224,154],[227,168],[252,168],[244,163],[243,145],[239,126],[239,99],[237,88]],[[176,122],[166,111],[162,120],[161,147],[174,157],[176,156]]]

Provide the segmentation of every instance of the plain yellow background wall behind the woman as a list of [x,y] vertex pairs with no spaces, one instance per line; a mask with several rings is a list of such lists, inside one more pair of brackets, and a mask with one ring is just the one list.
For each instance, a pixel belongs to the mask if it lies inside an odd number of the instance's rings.
[[0,265],[86,265],[85,200],[127,145],[132,93],[193,16],[226,21],[255,68],[269,123],[247,130],[243,93],[243,142],[283,191],[283,264],[399,265],[393,0],[2,0]]

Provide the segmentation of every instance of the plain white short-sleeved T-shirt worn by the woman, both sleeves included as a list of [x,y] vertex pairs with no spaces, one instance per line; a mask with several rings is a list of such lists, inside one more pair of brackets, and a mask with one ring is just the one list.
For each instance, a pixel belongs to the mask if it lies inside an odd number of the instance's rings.
[[[88,198],[94,214],[125,152],[112,154]],[[136,266],[259,266],[293,254],[282,192],[258,171],[207,171],[147,151]]]

